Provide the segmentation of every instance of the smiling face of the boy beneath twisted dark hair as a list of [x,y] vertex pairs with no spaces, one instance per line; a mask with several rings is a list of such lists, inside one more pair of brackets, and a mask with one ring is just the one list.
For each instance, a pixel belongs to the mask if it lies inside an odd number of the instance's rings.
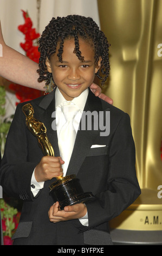
[[48,72],[53,74],[56,86],[66,100],[73,100],[86,90],[94,80],[95,73],[100,69],[101,58],[95,65],[93,47],[83,39],[79,39],[82,62],[74,53],[74,39],[64,40],[62,63],[57,57],[60,45],[57,45],[56,53],[47,58]]

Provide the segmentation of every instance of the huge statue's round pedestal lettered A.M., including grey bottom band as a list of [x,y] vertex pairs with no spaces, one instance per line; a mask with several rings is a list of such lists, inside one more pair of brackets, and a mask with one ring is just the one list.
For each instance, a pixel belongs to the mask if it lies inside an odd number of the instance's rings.
[[135,202],[109,222],[117,244],[162,244],[162,199],[158,190],[144,188]]

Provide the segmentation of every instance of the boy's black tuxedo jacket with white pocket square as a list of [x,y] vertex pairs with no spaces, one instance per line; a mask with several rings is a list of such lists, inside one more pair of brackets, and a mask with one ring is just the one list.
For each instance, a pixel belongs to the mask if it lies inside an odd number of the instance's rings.
[[[26,102],[27,103],[27,102]],[[55,111],[55,91],[30,102],[35,118],[47,127],[55,156],[59,156],[57,131],[51,123]],[[43,157],[37,139],[25,126],[23,104],[17,106],[1,164],[0,184],[12,197],[24,201],[20,224],[14,234],[16,245],[108,245],[112,244],[108,221],[118,216],[140,194],[135,173],[135,148],[128,114],[95,97],[89,90],[85,111],[110,111],[110,134],[98,130],[79,130],[67,175],[76,174],[85,192],[95,200],[86,203],[88,227],[79,220],[51,223],[48,210],[54,203],[49,196],[52,180],[34,198],[31,176]],[[106,145],[91,148],[92,145]]]

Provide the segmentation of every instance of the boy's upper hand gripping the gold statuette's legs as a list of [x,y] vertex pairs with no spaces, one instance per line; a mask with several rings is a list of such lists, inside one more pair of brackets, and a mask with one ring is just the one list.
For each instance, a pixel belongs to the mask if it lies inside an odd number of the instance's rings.
[[63,163],[60,156],[43,156],[35,167],[35,179],[37,182],[41,182],[63,175]]

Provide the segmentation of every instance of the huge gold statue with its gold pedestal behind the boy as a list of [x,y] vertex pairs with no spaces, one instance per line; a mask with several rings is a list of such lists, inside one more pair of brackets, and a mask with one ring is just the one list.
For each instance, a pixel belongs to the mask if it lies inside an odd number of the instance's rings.
[[98,7],[101,29],[111,44],[111,73],[103,92],[131,117],[142,191],[111,221],[111,228],[161,231],[162,1],[98,0]]

